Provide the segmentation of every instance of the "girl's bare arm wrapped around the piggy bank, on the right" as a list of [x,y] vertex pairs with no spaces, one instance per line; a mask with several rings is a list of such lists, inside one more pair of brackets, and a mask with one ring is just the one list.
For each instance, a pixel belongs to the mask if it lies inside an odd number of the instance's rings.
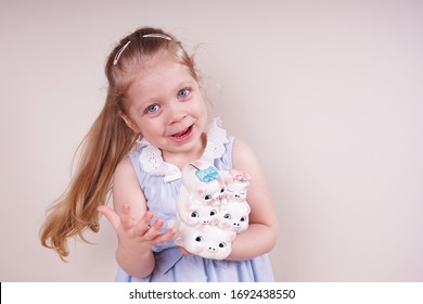
[[234,141],[232,163],[233,168],[252,176],[246,199],[251,214],[248,229],[236,236],[229,259],[249,259],[273,249],[278,238],[278,221],[260,165],[245,142]]

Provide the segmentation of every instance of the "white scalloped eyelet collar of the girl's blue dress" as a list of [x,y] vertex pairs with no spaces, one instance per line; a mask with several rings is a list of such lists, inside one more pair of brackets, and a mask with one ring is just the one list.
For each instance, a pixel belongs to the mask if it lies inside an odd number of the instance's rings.
[[[213,163],[225,153],[225,143],[228,143],[227,131],[220,127],[220,118],[214,118],[207,129],[207,143],[201,160]],[[163,160],[162,151],[141,140],[142,149],[139,161],[143,169],[151,175],[164,175],[164,181],[172,181],[181,177],[180,169]]]

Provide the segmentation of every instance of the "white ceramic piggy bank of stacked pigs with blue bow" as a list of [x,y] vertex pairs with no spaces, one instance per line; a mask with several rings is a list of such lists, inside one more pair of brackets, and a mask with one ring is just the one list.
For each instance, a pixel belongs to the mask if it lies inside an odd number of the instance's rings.
[[177,219],[169,223],[178,231],[174,243],[205,258],[226,258],[236,233],[248,227],[249,176],[238,170],[218,170],[196,160],[182,168],[181,178]]

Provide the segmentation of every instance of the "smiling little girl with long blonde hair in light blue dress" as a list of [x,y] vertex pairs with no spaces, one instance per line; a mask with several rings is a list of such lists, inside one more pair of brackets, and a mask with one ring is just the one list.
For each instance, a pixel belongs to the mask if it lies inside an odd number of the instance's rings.
[[[85,139],[68,190],[50,210],[42,244],[63,259],[67,238],[86,240],[84,231],[99,231],[103,214],[118,239],[117,281],[272,281],[267,253],[278,228],[260,166],[217,119],[206,128],[198,75],[181,43],[162,29],[140,28],[113,50],[105,73],[105,105]],[[176,218],[180,169],[197,159],[253,178],[248,229],[225,261],[176,246],[177,231],[166,225]],[[112,187],[114,211],[104,205]]]

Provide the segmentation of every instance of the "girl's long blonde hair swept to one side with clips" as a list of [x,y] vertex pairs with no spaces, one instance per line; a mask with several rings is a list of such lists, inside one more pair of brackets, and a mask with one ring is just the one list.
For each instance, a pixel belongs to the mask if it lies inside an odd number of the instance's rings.
[[79,237],[89,243],[84,232],[100,229],[97,208],[106,203],[116,166],[140,136],[120,117],[126,113],[126,92],[142,63],[159,54],[172,54],[195,80],[198,78],[181,42],[159,28],[139,28],[115,47],[105,65],[108,90],[104,107],[79,147],[80,160],[68,189],[51,205],[40,231],[41,244],[55,250],[62,259],[69,254],[68,238]]

